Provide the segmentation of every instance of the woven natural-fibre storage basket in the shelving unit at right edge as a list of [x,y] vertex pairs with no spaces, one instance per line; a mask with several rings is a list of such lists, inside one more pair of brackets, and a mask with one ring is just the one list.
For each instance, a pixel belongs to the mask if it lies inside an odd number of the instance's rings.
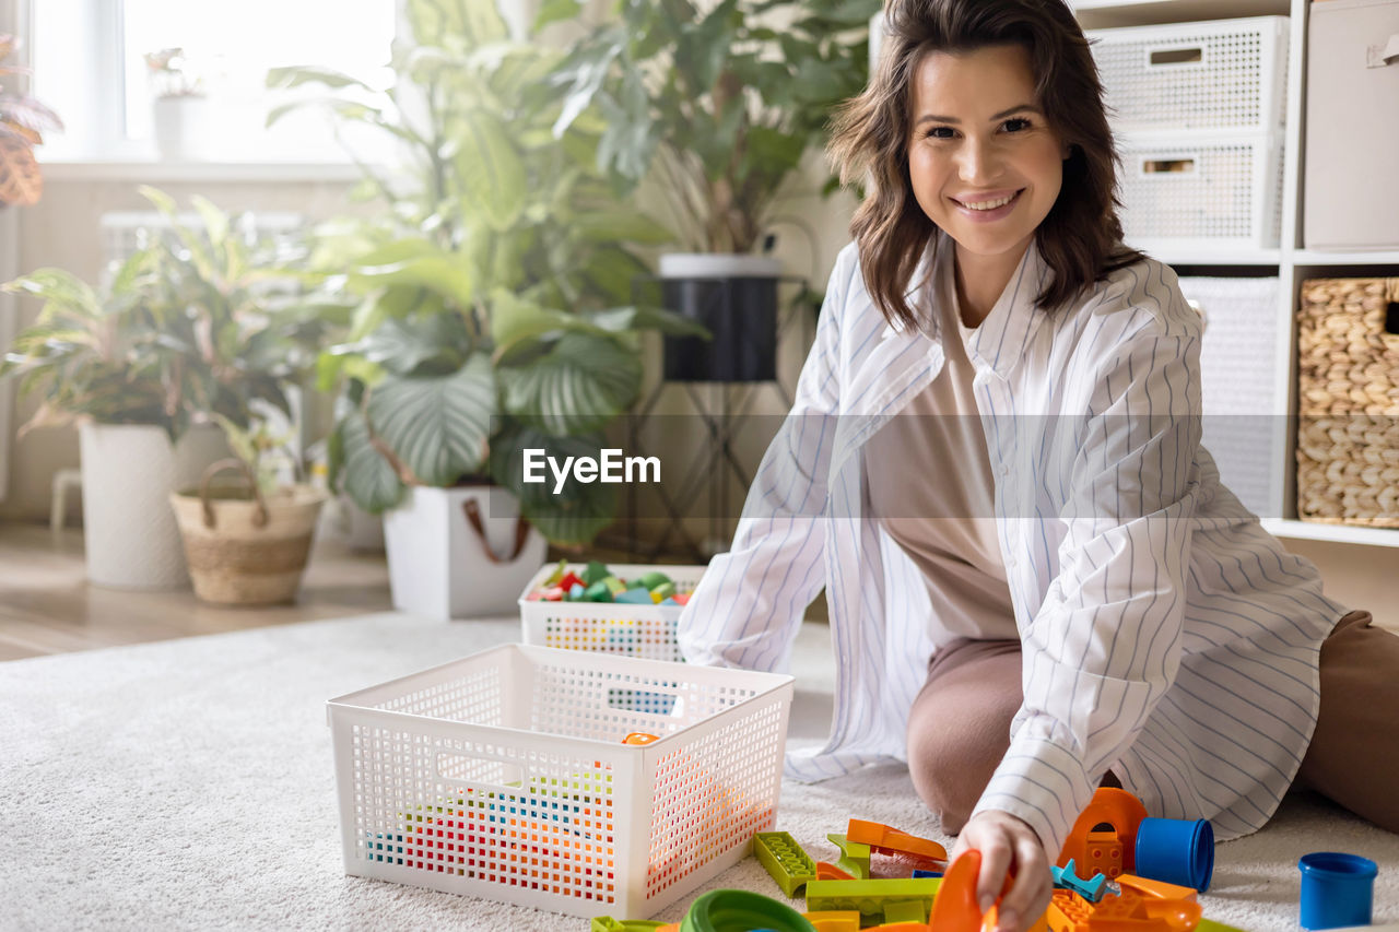
[[[1311,278],[1298,312],[1297,515],[1399,528],[1399,278]],[[1396,309],[1399,311],[1399,309]]]

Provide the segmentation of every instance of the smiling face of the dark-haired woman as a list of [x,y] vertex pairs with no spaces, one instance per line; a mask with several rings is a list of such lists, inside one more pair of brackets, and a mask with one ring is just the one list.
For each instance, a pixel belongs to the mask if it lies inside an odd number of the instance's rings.
[[914,73],[914,196],[961,250],[1018,262],[1059,197],[1069,151],[1034,87],[1018,45],[932,52]]

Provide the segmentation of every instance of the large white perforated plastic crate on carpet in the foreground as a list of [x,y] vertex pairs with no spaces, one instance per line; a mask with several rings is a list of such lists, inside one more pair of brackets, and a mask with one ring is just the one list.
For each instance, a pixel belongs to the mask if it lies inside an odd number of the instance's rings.
[[519,644],[330,700],[346,873],[653,915],[772,828],[790,705],[790,676]]

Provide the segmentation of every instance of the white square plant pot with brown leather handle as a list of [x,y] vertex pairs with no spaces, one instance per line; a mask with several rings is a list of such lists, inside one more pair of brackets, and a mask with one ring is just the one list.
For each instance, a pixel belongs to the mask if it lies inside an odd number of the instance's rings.
[[[466,518],[474,500],[492,561]],[[424,619],[509,617],[548,553],[534,528],[519,554],[515,549],[519,501],[504,488],[410,488],[402,505],[385,512],[393,607]]]

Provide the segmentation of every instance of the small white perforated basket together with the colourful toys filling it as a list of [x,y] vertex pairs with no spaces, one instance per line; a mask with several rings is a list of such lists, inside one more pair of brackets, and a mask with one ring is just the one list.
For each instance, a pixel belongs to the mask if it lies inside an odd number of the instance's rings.
[[525,644],[683,661],[676,623],[705,567],[560,561],[520,595]]

